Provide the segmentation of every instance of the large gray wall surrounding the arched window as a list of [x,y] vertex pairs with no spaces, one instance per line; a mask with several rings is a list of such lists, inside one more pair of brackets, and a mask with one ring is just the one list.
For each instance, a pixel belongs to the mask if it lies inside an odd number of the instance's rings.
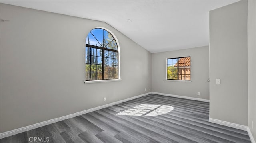
[[[1,22],[1,133],[151,87],[151,53],[104,22],[7,4],[2,18],[9,22]],[[95,27],[109,29],[120,43],[121,81],[83,82],[85,39]]]

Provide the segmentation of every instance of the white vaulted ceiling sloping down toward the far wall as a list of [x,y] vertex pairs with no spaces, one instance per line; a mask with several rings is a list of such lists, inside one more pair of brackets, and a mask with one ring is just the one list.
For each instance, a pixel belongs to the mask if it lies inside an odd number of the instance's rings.
[[236,1],[1,0],[1,3],[104,21],[151,53],[157,53],[209,45],[209,11]]

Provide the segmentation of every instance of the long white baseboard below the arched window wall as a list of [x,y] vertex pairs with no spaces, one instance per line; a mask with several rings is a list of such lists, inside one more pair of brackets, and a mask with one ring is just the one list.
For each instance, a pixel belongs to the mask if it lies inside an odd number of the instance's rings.
[[28,126],[26,126],[26,127],[21,127],[21,128],[14,129],[14,130],[11,130],[11,131],[6,131],[6,132],[4,132],[4,133],[0,133],[0,139],[2,139],[2,138],[4,138],[4,137],[9,137],[9,136],[11,136],[11,135],[16,135],[16,134],[22,133],[22,132],[24,132],[24,131],[29,131],[29,130],[31,130],[31,129],[36,129],[36,128],[38,128],[38,127],[42,127],[42,126],[45,126],[45,125],[49,125],[49,124],[51,124],[51,123],[56,123],[56,122],[58,122],[58,121],[63,121],[63,120],[65,120],[65,119],[73,118],[73,117],[76,117],[76,116],[79,116],[79,115],[82,115],[82,114],[86,114],[86,113],[89,113],[89,112],[93,112],[93,111],[96,111],[96,110],[99,110],[99,109],[102,109],[102,108],[106,108],[106,107],[108,107],[108,106],[112,106],[112,105],[116,105],[116,104],[119,104],[119,103],[122,103],[122,102],[126,102],[126,101],[129,101],[129,100],[135,99],[135,98],[139,98],[139,97],[142,97],[142,96],[146,96],[146,95],[148,95],[148,94],[151,94],[151,92],[148,92],[148,93],[145,93],[145,94],[141,94],[141,95],[138,95],[138,96],[134,96],[134,97],[131,97],[131,98],[127,98],[127,99],[124,99],[124,100],[112,102],[112,103],[105,104],[105,105],[102,105],[102,106],[90,108],[90,109],[88,109],[88,110],[76,112],[76,113],[69,114],[69,115],[66,115],[66,116],[62,116],[62,117],[59,117],[59,118],[50,119],[50,120],[48,120],[48,121],[43,121],[43,122],[36,123],[36,124],[33,124],[33,125],[28,125]]

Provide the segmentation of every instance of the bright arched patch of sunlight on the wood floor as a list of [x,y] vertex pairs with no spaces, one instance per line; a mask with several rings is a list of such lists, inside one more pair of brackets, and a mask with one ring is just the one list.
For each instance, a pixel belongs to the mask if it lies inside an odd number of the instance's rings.
[[172,111],[173,109],[174,108],[169,105],[140,104],[136,107],[130,108],[116,115],[157,116],[166,114]]

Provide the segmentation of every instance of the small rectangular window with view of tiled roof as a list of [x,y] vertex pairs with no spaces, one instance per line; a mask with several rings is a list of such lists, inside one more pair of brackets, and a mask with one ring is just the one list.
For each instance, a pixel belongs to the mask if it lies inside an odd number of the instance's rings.
[[190,57],[169,58],[166,64],[167,80],[190,80]]

